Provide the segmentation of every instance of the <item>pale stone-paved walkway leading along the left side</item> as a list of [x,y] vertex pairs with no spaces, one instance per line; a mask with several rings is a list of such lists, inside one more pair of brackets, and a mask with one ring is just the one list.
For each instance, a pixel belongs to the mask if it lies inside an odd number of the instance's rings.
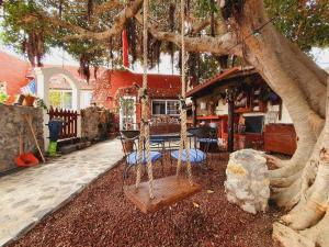
[[67,203],[123,157],[111,141],[0,178],[0,246]]

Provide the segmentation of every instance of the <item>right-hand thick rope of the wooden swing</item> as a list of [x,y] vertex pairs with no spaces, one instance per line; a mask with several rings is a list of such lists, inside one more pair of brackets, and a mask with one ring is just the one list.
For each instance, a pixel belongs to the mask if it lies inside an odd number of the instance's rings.
[[181,0],[181,43],[182,43],[182,98],[180,104],[180,117],[181,117],[181,142],[180,142],[180,150],[179,150],[179,159],[177,165],[177,176],[180,175],[181,166],[182,166],[182,156],[183,149],[185,148],[186,155],[186,170],[189,181],[192,184],[192,168],[191,168],[191,158],[190,158],[190,144],[188,142],[188,130],[186,130],[186,53],[185,53],[185,1]]

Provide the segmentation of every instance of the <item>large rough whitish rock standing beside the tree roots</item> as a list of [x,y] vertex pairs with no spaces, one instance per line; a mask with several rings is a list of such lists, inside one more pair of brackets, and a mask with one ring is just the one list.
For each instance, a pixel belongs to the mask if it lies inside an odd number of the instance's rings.
[[224,186],[230,203],[252,214],[268,209],[270,180],[264,153],[242,149],[230,154],[226,176]]

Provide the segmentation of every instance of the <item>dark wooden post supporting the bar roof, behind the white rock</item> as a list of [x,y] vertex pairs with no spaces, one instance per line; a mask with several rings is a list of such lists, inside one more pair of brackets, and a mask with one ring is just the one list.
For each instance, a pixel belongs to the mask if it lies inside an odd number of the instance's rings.
[[234,101],[234,89],[227,90],[228,100],[228,123],[227,123],[227,151],[234,151],[235,147],[235,101]]

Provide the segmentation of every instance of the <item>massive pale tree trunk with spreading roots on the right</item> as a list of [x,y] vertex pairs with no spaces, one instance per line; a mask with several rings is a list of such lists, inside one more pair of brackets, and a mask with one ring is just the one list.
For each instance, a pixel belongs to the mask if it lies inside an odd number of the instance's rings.
[[[246,1],[239,25],[242,36],[268,21],[262,4],[259,0]],[[273,237],[285,246],[293,246],[294,242],[297,243],[295,246],[329,246],[326,235],[329,231],[326,214],[329,192],[328,75],[272,24],[245,43],[248,61],[281,96],[298,136],[297,150],[291,160],[272,159],[280,167],[270,173],[272,198],[281,206],[293,207],[282,218],[290,228],[275,224]]]

